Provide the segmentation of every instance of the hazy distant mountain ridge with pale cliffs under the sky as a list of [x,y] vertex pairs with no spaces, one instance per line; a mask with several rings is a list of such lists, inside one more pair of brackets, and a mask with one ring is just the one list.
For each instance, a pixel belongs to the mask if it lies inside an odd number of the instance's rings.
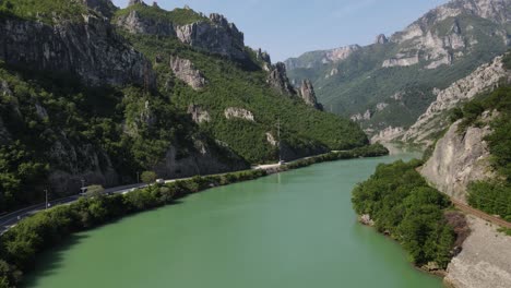
[[[510,45],[510,0],[453,0],[375,44],[314,51],[285,61],[289,79],[310,79],[325,110],[370,135],[412,125],[439,89],[502,55]],[[329,58],[334,51],[340,58]]]

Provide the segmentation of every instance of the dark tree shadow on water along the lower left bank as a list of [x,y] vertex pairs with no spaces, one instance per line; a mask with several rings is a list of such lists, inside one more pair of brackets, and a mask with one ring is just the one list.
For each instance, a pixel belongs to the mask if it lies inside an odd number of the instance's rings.
[[88,238],[85,233],[75,233],[64,240],[57,248],[43,252],[34,265],[34,269],[29,272],[23,279],[21,287],[29,288],[37,287],[38,279],[41,276],[54,275],[62,265],[64,255],[74,245],[82,243]]

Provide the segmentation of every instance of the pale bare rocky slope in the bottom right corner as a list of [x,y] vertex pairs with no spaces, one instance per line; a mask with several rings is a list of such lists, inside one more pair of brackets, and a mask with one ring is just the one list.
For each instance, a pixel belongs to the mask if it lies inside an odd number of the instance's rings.
[[511,287],[511,237],[479,218],[467,218],[472,233],[449,264],[444,283],[455,288]]

